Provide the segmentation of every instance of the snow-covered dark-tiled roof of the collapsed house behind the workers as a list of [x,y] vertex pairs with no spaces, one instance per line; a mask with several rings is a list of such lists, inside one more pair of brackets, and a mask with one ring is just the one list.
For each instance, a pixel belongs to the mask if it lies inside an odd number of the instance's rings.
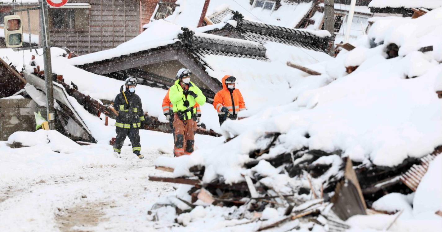
[[[315,64],[317,62],[331,59],[324,52],[329,34],[317,36],[309,30],[295,30],[290,28],[271,26],[262,23],[242,20],[240,23],[232,20],[229,23],[220,23],[207,26],[207,29],[214,30],[236,30],[239,37],[223,37],[217,34],[196,32],[188,29],[177,29],[177,25],[166,21],[152,22],[145,32],[131,41],[118,46],[115,49],[95,52],[92,54],[72,58],[71,64],[81,65],[81,68],[95,73],[105,74],[137,68],[151,62],[158,67],[164,67],[161,62],[167,60],[179,60],[187,64],[192,72],[210,88],[212,94],[221,88],[220,82],[224,75],[234,75],[238,79],[238,86],[241,86],[243,96],[248,99],[261,99],[261,101],[249,101],[248,109],[259,111],[263,104],[272,104],[278,99],[292,101],[285,97],[286,90],[290,89],[292,83],[302,79],[304,74],[291,67],[286,62],[291,61],[297,64]],[[236,27],[235,27],[236,26]],[[220,29],[221,28],[221,29]],[[206,28],[198,28],[197,31],[205,31]],[[156,33],[162,32],[162,39],[170,41],[169,44],[158,44]],[[157,44],[157,46],[155,46]],[[178,53],[171,51],[185,51],[185,60]],[[175,54],[160,60],[160,54]],[[180,53],[180,54],[181,54]],[[187,59],[192,60],[192,67],[186,63]],[[133,61],[131,61],[133,60]],[[145,60],[135,65],[135,60]],[[124,63],[124,65],[122,65]],[[114,64],[121,66],[115,67]],[[151,64],[151,63],[149,63]],[[133,67],[132,67],[133,66]],[[204,79],[206,75],[206,79]],[[168,77],[171,78],[171,77]],[[168,79],[166,78],[166,80]],[[164,83],[164,79],[161,79]],[[256,84],[256,81],[259,84]],[[215,86],[211,85],[213,82]],[[169,83],[165,83],[170,86]],[[200,86],[198,84],[198,86]],[[201,87],[201,86],[200,86]],[[263,91],[271,91],[273,94],[263,95]],[[281,101],[280,101],[281,102]]]

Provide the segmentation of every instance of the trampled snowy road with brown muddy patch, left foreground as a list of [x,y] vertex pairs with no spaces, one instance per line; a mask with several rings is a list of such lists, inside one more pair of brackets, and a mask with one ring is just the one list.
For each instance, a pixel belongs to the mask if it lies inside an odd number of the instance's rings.
[[[221,142],[195,140],[197,149]],[[130,146],[116,158],[110,145],[80,146],[57,131],[16,132],[8,142],[29,147],[0,141],[0,231],[156,231],[147,211],[173,188],[148,176],[160,173],[153,160],[172,151],[171,134],[141,130],[143,160]]]

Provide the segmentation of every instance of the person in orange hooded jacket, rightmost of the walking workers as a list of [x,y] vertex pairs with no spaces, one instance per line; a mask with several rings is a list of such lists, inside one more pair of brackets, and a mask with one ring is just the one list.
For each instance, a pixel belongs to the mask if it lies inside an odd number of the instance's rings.
[[236,120],[238,112],[246,109],[243,95],[240,90],[235,89],[236,78],[225,75],[222,80],[222,90],[218,91],[213,98],[213,107],[218,112],[220,125],[227,118]]

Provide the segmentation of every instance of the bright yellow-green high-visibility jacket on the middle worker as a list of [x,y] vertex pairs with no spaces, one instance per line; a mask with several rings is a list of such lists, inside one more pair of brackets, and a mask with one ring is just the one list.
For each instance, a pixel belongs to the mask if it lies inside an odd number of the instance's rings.
[[[204,105],[206,102],[206,96],[202,94],[202,91],[193,82],[189,83],[188,91],[193,91],[197,97],[194,98],[191,95],[185,95],[183,88],[179,84],[179,80],[176,80],[175,85],[171,86],[169,90],[169,99],[173,105],[173,112],[179,112],[179,115],[183,114],[184,120],[189,120],[196,114],[196,108],[194,108],[195,103]],[[188,107],[184,106],[184,101],[186,100],[189,101]]]

